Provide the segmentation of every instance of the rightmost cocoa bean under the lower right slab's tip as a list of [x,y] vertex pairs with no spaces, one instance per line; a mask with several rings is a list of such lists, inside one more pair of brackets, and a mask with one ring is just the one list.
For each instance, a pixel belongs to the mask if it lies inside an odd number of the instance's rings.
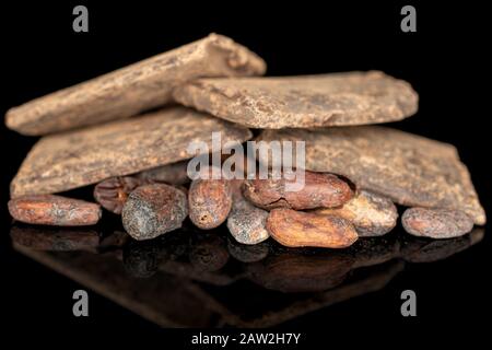
[[401,217],[405,231],[430,238],[453,238],[473,229],[473,221],[465,212],[452,209],[410,208]]

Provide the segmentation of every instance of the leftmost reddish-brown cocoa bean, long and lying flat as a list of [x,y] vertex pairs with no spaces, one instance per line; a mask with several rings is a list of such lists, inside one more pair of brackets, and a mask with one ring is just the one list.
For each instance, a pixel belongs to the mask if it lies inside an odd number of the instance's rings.
[[55,195],[11,199],[9,212],[21,222],[56,226],[93,225],[102,217],[101,207],[96,203]]

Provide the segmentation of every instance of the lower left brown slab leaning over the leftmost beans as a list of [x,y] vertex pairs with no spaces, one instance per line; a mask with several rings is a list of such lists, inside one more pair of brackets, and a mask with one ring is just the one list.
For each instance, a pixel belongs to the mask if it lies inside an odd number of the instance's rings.
[[211,148],[212,131],[222,132],[224,143],[251,137],[248,129],[184,107],[47,136],[28,153],[11,196],[54,194],[189,159],[188,143]]

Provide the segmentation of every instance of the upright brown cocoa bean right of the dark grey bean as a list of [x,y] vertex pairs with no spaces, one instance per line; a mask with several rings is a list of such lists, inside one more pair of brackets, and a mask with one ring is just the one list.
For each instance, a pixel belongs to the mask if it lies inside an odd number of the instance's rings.
[[199,229],[221,225],[232,208],[232,186],[226,179],[195,179],[188,191],[189,219]]

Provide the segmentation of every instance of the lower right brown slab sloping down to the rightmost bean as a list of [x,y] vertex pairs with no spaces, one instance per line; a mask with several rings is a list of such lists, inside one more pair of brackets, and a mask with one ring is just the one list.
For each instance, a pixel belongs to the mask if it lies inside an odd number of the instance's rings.
[[349,177],[359,187],[409,207],[462,210],[485,223],[455,147],[396,129],[365,126],[266,130],[259,139],[306,141],[306,168]]

